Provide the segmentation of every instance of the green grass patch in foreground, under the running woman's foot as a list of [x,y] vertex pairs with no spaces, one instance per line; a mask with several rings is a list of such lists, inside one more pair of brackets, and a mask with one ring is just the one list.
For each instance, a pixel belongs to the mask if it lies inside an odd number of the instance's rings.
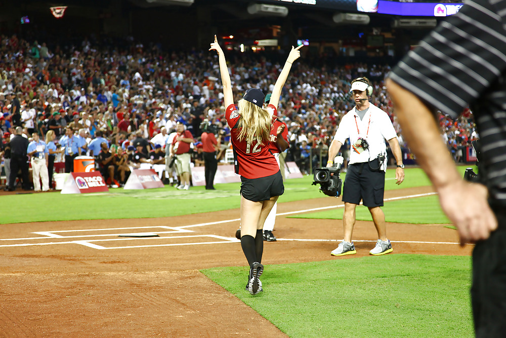
[[470,257],[386,255],[203,273],[290,337],[471,337]]

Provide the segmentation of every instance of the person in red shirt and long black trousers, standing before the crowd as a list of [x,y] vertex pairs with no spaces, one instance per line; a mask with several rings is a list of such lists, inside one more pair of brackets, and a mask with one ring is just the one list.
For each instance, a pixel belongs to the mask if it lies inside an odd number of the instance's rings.
[[214,128],[208,124],[207,120],[204,120],[207,125],[202,128],[202,134],[200,140],[202,141],[202,151],[204,156],[204,177],[205,177],[205,190],[215,190],[213,182],[215,180],[216,170],[218,169],[218,160],[216,159],[216,152],[219,151],[221,144],[221,137],[223,131],[218,134],[216,139],[214,134]]

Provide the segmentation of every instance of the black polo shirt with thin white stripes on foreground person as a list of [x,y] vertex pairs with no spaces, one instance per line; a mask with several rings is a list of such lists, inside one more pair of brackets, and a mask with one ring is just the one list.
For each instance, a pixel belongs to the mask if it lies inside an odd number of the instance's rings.
[[491,204],[506,206],[506,0],[466,2],[389,77],[456,118],[469,104],[482,143],[480,176]]

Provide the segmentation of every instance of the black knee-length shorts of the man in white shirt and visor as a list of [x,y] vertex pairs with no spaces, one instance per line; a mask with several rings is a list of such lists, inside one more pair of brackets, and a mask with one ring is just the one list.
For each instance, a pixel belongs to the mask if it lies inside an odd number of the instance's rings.
[[378,167],[377,159],[355,163],[348,166],[343,186],[343,202],[360,204],[366,207],[382,207],[385,193],[385,171],[371,169]]

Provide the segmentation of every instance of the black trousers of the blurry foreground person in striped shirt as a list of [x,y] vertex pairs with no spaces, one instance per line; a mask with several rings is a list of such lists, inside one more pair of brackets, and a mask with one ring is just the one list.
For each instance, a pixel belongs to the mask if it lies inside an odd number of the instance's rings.
[[498,228],[473,250],[471,304],[476,337],[506,332],[506,212],[496,213]]

